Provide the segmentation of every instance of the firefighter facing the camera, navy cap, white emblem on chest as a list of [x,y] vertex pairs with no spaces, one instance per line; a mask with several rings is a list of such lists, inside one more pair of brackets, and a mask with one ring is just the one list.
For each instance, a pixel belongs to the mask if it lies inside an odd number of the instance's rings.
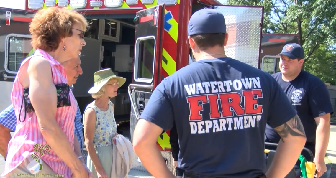
[[[307,136],[305,147],[315,155],[314,163],[318,178],[327,171],[324,158],[329,142],[330,115],[333,113],[329,91],[318,77],[302,70],[304,51],[300,45],[295,43],[285,45],[278,57],[281,58],[279,62],[281,72],[272,76],[297,110]],[[265,135],[266,142],[278,143],[280,140],[279,134],[269,125],[266,126]],[[303,151],[302,155],[307,160],[311,159],[306,151]],[[297,176],[301,175],[299,162],[295,170]]]

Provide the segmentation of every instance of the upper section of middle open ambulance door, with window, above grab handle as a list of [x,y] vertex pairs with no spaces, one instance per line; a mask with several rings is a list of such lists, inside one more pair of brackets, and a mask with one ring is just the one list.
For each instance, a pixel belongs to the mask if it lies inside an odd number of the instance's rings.
[[[158,84],[162,60],[164,5],[136,13],[133,84],[153,90]],[[138,88],[141,88],[138,86]]]

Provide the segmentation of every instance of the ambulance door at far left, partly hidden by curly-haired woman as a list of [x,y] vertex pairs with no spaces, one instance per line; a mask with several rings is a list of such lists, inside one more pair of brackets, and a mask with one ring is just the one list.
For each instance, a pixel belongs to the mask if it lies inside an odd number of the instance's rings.
[[0,8],[0,111],[12,103],[13,81],[22,60],[34,53],[29,33],[33,15],[31,11]]

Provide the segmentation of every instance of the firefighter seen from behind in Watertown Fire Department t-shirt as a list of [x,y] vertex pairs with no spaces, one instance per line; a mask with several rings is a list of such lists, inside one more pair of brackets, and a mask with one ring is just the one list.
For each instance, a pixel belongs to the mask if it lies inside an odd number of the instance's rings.
[[156,141],[174,122],[185,178],[264,177],[266,123],[282,136],[267,178],[284,178],[296,163],[306,137],[295,109],[269,74],[225,56],[228,38],[219,11],[191,16],[196,62],[155,88],[133,134],[134,151],[154,177],[173,177]]

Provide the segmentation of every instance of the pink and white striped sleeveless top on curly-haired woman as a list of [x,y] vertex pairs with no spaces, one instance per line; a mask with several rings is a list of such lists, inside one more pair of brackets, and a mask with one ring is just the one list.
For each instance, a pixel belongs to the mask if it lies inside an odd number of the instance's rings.
[[[52,81],[56,84],[68,83],[65,75],[64,67],[55,59],[53,59],[48,53],[43,50],[36,50],[33,56],[43,56],[50,61],[52,71]],[[33,57],[31,56],[31,57]],[[22,61],[21,66],[26,65],[31,57],[28,57]],[[8,154],[5,164],[5,171],[2,176],[5,176],[9,172],[13,171],[19,166],[28,156],[34,151],[33,145],[36,143],[48,144],[43,138],[40,128],[38,126],[37,117],[35,112],[26,113],[23,100],[24,87],[20,84],[18,76],[22,72],[20,68],[16,78],[14,80],[14,86],[11,94],[11,101],[14,106],[16,115],[16,130],[14,136],[8,144]],[[74,146],[74,118],[77,110],[75,97],[70,91],[71,106],[58,107],[56,111],[56,121],[58,126],[64,131],[72,147]],[[21,109],[22,107],[22,109]],[[21,109],[21,113],[20,113]],[[48,112],[48,111],[46,111]],[[21,121],[19,121],[19,115]],[[71,177],[70,168],[50,149],[48,154],[44,154],[41,158],[50,168],[57,174]]]

